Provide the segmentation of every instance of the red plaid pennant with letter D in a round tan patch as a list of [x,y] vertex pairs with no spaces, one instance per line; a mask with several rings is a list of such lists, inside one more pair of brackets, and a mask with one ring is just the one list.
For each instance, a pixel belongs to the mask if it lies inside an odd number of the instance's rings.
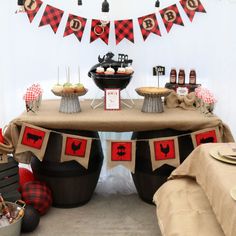
[[87,19],[70,14],[63,37],[74,34],[81,41]]

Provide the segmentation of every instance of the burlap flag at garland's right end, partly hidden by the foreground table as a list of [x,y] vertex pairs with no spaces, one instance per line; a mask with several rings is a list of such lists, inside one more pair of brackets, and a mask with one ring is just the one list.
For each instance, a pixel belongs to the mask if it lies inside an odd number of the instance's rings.
[[221,143],[219,127],[202,129],[191,133],[194,148],[203,143]]

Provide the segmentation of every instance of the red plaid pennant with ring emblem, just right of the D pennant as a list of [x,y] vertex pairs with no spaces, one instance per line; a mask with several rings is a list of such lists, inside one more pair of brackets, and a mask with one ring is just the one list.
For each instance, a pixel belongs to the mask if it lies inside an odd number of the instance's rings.
[[101,20],[92,19],[90,43],[100,38],[106,44],[108,44],[109,31],[110,31],[110,22],[107,24],[102,24]]

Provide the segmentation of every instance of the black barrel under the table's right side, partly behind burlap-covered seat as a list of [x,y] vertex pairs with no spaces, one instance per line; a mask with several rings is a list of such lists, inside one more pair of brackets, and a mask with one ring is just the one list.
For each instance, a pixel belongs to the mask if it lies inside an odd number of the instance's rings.
[[180,162],[190,154],[193,150],[192,139],[189,131],[177,131],[173,129],[152,130],[133,132],[132,139],[147,139],[147,141],[136,142],[136,164],[135,173],[132,178],[139,194],[139,197],[148,203],[153,203],[153,195],[157,189],[167,180],[167,177],[175,169],[167,164],[152,171],[151,155],[148,139],[170,137],[183,135],[178,137]]

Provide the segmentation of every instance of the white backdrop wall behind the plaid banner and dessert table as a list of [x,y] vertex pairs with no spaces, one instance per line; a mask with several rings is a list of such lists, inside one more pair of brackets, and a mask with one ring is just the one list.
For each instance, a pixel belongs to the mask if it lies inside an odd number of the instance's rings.
[[[177,0],[161,1],[161,8],[177,3],[185,26],[174,25],[166,33],[160,15],[157,19],[162,37],[151,34],[143,41],[137,18],[155,11],[155,1],[109,0],[110,19],[133,19],[135,43],[124,39],[115,44],[114,26],[111,25],[109,45],[100,39],[89,42],[91,19],[101,18],[102,0],[43,0],[44,5],[30,24],[26,14],[14,14],[17,0],[1,2],[0,8],[0,126],[7,124],[24,109],[22,95],[32,83],[40,83],[44,98],[54,98],[50,89],[57,81],[57,67],[61,68],[61,82],[65,81],[64,68],[70,66],[72,81],[77,82],[77,67],[81,68],[81,81],[89,89],[85,96],[93,98],[98,92],[87,73],[97,63],[98,55],[108,51],[128,54],[133,59],[134,77],[127,87],[132,97],[138,97],[134,89],[157,84],[152,67],[166,66],[167,75],[161,77],[161,85],[168,81],[171,67],[190,68],[197,71],[198,82],[209,88],[217,97],[216,114],[236,134],[235,62],[236,62],[236,4],[233,0],[201,0],[207,14],[196,13],[193,22],[187,18]],[[49,26],[38,27],[46,4],[65,11],[58,32]],[[74,35],[63,38],[68,14],[88,19],[84,36],[79,42]]]

